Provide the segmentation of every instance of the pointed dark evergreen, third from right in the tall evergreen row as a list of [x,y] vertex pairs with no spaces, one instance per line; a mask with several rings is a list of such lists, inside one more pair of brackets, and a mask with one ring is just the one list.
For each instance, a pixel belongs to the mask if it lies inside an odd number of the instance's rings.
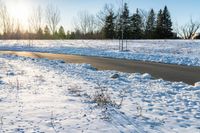
[[145,36],[147,39],[155,38],[155,29],[156,29],[156,18],[154,10],[151,9],[147,18]]

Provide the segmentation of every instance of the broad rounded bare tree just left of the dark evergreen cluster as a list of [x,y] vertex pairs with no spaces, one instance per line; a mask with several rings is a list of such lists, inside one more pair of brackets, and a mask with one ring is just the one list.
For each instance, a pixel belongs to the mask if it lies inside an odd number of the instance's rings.
[[79,30],[83,34],[93,33],[95,31],[95,17],[87,11],[78,13],[77,18],[74,19],[75,30]]

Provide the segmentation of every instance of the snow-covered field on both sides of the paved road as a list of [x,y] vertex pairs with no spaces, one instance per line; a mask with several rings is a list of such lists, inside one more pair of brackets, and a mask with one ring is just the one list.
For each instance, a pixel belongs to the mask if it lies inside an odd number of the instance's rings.
[[[200,41],[1,41],[40,51],[200,66]],[[0,132],[200,132],[200,85],[0,55]]]

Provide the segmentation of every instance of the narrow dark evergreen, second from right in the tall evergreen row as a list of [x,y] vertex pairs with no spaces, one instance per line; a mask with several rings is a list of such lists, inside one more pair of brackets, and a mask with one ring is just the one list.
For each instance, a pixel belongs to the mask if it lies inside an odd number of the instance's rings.
[[156,21],[156,38],[163,38],[163,11],[160,9]]

